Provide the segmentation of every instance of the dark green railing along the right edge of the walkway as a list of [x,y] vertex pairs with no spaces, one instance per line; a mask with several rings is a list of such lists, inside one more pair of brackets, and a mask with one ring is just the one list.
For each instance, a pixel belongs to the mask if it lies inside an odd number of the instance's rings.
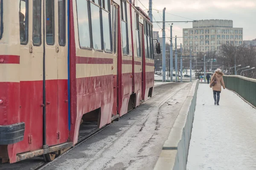
[[236,92],[244,100],[256,107],[256,79],[238,75],[224,75],[226,88]]

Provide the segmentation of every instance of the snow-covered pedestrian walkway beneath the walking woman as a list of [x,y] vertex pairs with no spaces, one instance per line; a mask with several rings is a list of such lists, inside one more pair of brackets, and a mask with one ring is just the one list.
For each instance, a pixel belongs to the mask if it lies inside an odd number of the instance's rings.
[[200,84],[187,170],[256,170],[256,109],[229,90],[214,105]]

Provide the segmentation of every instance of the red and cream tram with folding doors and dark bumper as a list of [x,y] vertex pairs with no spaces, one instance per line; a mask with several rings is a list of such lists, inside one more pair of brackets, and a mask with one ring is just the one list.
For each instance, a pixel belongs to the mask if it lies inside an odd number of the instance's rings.
[[[160,45],[157,53],[160,53]],[[148,16],[126,0],[0,0],[0,160],[55,155],[153,93]]]

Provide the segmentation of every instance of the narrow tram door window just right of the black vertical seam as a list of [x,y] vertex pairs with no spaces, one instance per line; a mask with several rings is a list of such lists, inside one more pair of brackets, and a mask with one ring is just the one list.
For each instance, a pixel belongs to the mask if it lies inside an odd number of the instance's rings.
[[46,43],[54,44],[54,0],[46,0]]

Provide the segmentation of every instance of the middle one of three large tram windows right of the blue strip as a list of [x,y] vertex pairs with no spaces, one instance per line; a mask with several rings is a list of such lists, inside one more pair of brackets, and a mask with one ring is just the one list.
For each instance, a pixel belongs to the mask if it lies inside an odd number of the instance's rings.
[[101,28],[100,28],[100,8],[91,3],[91,22],[93,35],[93,48],[96,50],[103,50],[101,42]]

